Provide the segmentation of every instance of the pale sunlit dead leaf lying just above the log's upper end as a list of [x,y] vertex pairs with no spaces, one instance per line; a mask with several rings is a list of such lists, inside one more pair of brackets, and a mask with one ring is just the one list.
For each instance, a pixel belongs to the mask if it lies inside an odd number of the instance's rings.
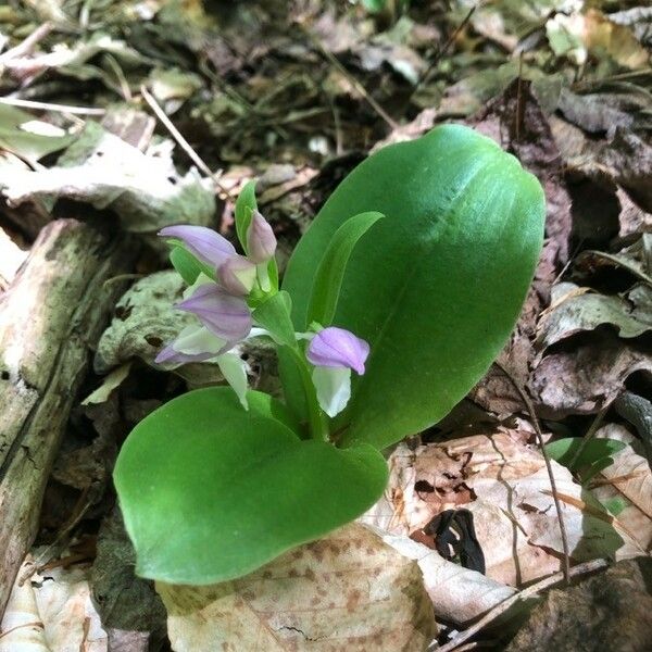
[[0,193],[14,205],[67,198],[111,208],[135,233],[179,223],[205,226],[215,212],[211,185],[195,168],[186,175],[175,170],[171,141],[143,153],[92,122],[55,167],[4,170]]

